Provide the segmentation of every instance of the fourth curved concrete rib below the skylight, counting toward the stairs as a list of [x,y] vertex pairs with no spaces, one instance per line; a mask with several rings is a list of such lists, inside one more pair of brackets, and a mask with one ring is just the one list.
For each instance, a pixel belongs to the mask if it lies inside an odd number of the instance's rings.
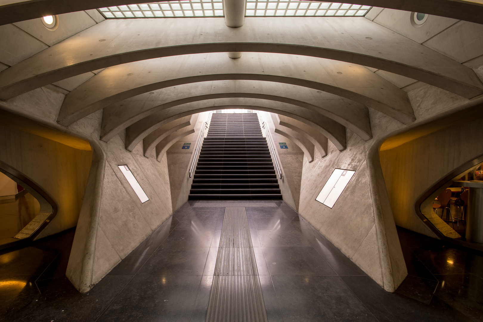
[[[209,106],[209,107],[204,109],[204,107],[206,106]],[[218,110],[220,109],[220,106],[222,106],[223,109],[237,108],[233,106],[244,106],[242,108],[246,108],[249,110],[255,109],[260,111],[282,114],[282,115],[294,118],[300,122],[306,123],[309,126],[312,126],[317,131],[324,134],[330,141],[332,141],[332,143],[334,143],[334,145],[340,151],[344,150],[346,146],[345,127],[341,126],[339,123],[336,123],[319,113],[312,112],[306,109],[301,109],[298,106],[294,106],[294,105],[282,103],[282,102],[274,102],[274,101],[255,99],[255,98],[208,99],[208,100],[190,102],[190,103],[186,103],[169,109],[165,109],[160,112],[156,112],[154,114],[151,114],[148,117],[143,118],[142,120],[137,121],[136,123],[126,128],[126,146],[128,147],[128,150],[134,149],[134,147],[144,137],[146,137],[157,127],[162,126],[163,124],[166,124],[172,121],[173,119],[192,114],[191,112],[189,112],[188,114],[183,114],[183,112],[177,112],[177,111],[195,110],[196,113],[198,113],[203,111]],[[170,118],[171,115],[178,115],[178,116],[173,116],[173,118]]]

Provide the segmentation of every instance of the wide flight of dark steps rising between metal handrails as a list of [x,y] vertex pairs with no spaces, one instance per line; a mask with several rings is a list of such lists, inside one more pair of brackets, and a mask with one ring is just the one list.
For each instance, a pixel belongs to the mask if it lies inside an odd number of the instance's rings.
[[189,199],[282,199],[256,113],[212,114]]

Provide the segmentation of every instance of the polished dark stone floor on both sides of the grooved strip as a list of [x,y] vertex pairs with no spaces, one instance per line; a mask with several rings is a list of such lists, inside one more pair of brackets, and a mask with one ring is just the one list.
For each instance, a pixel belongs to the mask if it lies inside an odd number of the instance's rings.
[[[88,294],[74,230],[0,252],[0,321],[205,321],[225,208],[188,201]],[[269,321],[483,322],[483,257],[398,229],[409,276],[385,292],[283,201],[246,207]]]

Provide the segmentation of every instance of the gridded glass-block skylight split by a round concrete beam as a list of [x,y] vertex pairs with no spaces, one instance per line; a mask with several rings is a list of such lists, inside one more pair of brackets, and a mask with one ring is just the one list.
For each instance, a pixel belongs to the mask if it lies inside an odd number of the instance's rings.
[[[106,18],[181,18],[224,16],[223,0],[180,0],[99,8]],[[247,0],[245,16],[365,16],[370,6],[299,0]]]

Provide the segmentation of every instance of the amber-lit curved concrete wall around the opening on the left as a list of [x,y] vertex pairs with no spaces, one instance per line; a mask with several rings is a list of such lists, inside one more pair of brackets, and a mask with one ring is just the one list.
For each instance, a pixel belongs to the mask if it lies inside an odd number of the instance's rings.
[[0,160],[39,184],[59,207],[57,216],[37,238],[77,224],[91,157],[91,151],[0,126]]

